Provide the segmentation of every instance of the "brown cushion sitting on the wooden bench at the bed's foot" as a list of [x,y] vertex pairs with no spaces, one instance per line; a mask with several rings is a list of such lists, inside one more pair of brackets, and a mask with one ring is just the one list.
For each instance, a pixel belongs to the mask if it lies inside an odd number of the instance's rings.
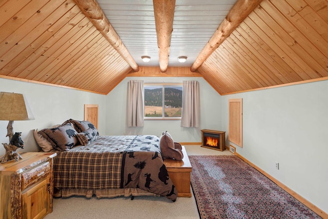
[[179,143],[174,142],[171,135],[166,131],[162,133],[159,138],[159,146],[163,158],[171,158],[175,160],[182,160],[182,147]]

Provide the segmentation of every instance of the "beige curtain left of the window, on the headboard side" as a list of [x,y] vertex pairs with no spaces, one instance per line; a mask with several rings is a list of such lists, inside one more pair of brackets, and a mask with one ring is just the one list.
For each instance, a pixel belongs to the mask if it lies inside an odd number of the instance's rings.
[[144,81],[130,80],[128,83],[128,127],[144,126]]

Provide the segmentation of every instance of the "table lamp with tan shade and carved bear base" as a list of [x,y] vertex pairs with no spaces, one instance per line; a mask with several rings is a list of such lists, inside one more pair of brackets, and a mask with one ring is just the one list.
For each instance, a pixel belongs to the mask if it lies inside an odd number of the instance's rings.
[[24,94],[0,92],[0,120],[9,120],[6,135],[9,137],[9,144],[3,143],[6,154],[1,163],[23,159],[16,149],[23,148],[24,142],[20,138],[21,133],[14,133],[12,125],[16,120],[33,119],[33,114]]

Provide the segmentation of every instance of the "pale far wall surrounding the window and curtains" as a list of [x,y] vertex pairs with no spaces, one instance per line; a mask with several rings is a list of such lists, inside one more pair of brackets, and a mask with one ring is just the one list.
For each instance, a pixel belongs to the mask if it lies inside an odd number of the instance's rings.
[[[181,82],[197,80],[200,89],[200,127],[180,127],[181,120],[146,120],[144,127],[127,127],[126,108],[129,80]],[[127,77],[107,95],[107,135],[156,135],[168,131],[176,142],[201,142],[201,129],[221,129],[220,95],[201,77]]]

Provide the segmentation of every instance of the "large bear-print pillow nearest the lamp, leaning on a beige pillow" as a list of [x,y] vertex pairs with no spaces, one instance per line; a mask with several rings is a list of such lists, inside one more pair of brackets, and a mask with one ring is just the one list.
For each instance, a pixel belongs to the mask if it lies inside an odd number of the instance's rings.
[[69,123],[56,128],[42,129],[38,134],[41,134],[43,137],[47,136],[57,150],[68,150],[79,144],[76,136],[77,132]]

